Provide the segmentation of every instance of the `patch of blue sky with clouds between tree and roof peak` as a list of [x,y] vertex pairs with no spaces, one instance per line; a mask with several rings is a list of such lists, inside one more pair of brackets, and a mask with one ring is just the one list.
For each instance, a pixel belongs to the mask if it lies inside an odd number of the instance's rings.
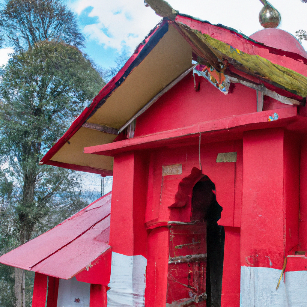
[[161,19],[142,0],[68,0],[67,5],[78,15],[87,38],[84,51],[106,68],[115,66],[120,52],[132,54]]

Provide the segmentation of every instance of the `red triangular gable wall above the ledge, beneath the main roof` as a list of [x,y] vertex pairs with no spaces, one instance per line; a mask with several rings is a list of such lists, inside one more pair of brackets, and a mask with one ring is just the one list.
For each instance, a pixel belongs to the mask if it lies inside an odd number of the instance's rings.
[[206,79],[199,79],[199,91],[194,89],[191,73],[161,96],[137,118],[134,135],[147,135],[232,115],[257,112],[254,89],[235,84],[234,92],[225,95]]

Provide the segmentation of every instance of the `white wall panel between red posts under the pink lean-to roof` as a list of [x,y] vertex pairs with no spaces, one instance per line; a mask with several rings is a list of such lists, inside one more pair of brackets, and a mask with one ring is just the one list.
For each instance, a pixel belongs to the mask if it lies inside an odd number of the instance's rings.
[[57,307],[89,307],[90,291],[91,284],[78,282],[76,277],[60,279]]

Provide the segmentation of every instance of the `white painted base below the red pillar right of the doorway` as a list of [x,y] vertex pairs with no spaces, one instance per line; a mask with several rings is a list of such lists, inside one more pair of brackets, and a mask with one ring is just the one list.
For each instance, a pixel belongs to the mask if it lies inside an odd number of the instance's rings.
[[286,272],[278,290],[282,270],[241,266],[240,307],[307,306],[307,271]]

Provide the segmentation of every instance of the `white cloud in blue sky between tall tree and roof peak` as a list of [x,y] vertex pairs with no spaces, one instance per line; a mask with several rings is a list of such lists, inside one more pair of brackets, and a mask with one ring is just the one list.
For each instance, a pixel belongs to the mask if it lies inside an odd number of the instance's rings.
[[80,14],[92,6],[89,17],[98,16],[98,23],[86,25],[84,33],[105,47],[118,50],[123,45],[134,50],[161,17],[144,5],[143,0],[95,1],[80,0],[70,3],[70,7]]

